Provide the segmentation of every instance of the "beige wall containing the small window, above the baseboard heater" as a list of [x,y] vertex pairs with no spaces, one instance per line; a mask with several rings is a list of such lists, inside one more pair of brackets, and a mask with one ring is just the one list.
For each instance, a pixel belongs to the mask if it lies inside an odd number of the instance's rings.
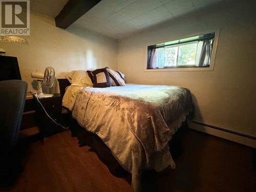
[[[186,87],[194,95],[195,120],[256,136],[256,14],[246,2],[189,14],[119,41],[118,69],[128,82]],[[214,71],[144,72],[146,46],[216,28]]]

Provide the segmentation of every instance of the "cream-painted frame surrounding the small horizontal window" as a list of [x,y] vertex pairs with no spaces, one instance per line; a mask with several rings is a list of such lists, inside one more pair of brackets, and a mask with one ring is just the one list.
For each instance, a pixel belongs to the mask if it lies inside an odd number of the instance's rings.
[[[210,61],[210,67],[197,67],[194,65],[186,65],[186,66],[172,66],[172,67],[164,67],[162,69],[147,69],[147,59],[148,59],[148,47],[152,45],[157,45],[157,44],[164,44],[164,42],[169,42],[169,41],[174,41],[174,40],[179,40],[179,39],[184,39],[184,38],[189,38],[189,37],[194,37],[198,35],[204,35],[207,33],[215,33],[215,39],[214,39],[214,45],[212,47],[212,53],[211,53],[211,61]],[[214,29],[214,30],[207,30],[203,32],[198,32],[194,34],[189,34],[185,36],[180,36],[180,37],[175,37],[172,39],[167,39],[163,40],[163,43],[159,42],[152,42],[150,45],[147,45],[145,48],[145,55],[146,55],[146,61],[145,61],[145,67],[144,67],[144,72],[168,72],[168,71],[214,71],[214,66],[215,66],[215,58],[216,58],[216,53],[217,53],[217,47],[218,47],[218,41],[219,41],[219,35],[220,35],[220,29]],[[182,44],[179,44],[182,45]],[[175,46],[175,45],[174,45]],[[167,47],[167,46],[166,46]],[[178,64],[178,60],[177,60]]]

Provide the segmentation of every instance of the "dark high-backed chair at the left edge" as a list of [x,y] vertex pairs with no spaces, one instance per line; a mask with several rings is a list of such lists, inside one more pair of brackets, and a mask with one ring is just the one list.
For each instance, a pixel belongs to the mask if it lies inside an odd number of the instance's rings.
[[17,142],[28,84],[22,80],[0,81],[0,180],[15,172],[13,151]]

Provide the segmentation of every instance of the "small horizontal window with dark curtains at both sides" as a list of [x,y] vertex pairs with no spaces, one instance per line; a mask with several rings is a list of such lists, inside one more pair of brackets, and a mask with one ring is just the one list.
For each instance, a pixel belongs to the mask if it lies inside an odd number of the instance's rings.
[[147,47],[146,69],[209,68],[215,33]]

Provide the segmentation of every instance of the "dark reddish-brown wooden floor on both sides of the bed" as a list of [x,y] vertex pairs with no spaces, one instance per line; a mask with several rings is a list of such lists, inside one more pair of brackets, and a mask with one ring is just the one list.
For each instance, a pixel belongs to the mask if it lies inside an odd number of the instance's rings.
[[[256,191],[252,148],[187,130],[176,169],[146,172],[143,191]],[[0,191],[132,191],[77,138],[62,132],[28,145],[17,184]],[[129,175],[128,175],[129,176]]]

